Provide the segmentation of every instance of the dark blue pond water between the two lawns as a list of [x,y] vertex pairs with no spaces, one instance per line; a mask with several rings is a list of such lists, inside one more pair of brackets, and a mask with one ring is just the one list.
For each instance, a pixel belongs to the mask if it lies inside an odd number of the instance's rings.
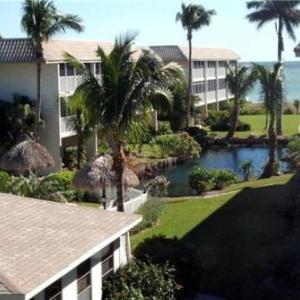
[[[252,160],[252,176],[259,176],[268,161],[269,150],[266,147],[238,147],[210,149],[201,153],[200,158],[165,170],[162,175],[170,181],[169,196],[192,194],[188,184],[188,173],[194,166],[209,169],[231,169],[241,177],[240,165],[245,160]],[[277,158],[286,156],[286,149],[278,149]],[[280,161],[280,170],[287,172],[292,169],[288,162]]]

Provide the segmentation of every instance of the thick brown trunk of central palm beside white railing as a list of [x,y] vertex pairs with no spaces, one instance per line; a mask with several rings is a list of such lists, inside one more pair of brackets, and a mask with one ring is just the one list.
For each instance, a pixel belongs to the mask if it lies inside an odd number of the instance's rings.
[[107,135],[107,141],[112,149],[113,156],[113,169],[116,174],[116,189],[117,189],[117,211],[125,211],[124,206],[124,184],[123,184],[123,173],[126,164],[126,157],[123,150],[123,142],[121,141],[118,134]]

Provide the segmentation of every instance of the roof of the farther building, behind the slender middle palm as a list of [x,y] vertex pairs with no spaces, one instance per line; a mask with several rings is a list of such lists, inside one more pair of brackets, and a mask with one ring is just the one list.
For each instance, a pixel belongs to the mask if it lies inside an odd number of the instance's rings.
[[[189,48],[181,46],[151,46],[154,52],[163,60],[187,61]],[[193,60],[238,60],[240,57],[231,49],[227,48],[199,48],[192,49]]]

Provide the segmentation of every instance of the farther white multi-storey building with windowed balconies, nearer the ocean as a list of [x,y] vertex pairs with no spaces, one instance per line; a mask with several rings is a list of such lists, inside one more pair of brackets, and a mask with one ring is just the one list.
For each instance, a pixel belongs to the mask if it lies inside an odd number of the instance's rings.
[[[164,62],[179,63],[188,78],[188,47],[151,46]],[[228,67],[236,65],[240,57],[231,49],[192,48],[192,89],[200,98],[197,106],[215,103],[217,109],[221,101],[229,100],[231,95],[226,89],[225,77]]]

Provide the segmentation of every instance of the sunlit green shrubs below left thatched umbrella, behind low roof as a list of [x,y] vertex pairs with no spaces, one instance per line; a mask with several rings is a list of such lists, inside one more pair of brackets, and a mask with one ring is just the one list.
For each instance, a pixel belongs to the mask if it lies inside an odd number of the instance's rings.
[[55,202],[66,202],[72,198],[72,191],[61,191],[59,182],[31,175],[30,177],[12,177],[8,187],[10,193],[30,198],[38,198]]

